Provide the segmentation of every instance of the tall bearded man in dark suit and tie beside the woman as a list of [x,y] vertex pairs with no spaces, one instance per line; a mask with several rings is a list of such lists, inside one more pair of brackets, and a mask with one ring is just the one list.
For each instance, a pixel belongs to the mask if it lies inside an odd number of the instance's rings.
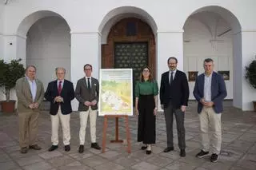
[[169,57],[167,63],[170,70],[166,73],[162,73],[160,86],[160,101],[166,118],[167,134],[167,148],[165,148],[164,152],[174,150],[173,120],[175,115],[178,132],[178,147],[180,148],[180,156],[184,157],[186,156],[184,114],[190,95],[190,89],[186,74],[177,70],[177,58]]

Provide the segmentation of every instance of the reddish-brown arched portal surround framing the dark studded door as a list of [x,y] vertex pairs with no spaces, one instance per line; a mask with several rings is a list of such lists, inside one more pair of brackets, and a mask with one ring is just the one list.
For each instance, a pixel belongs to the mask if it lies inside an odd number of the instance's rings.
[[[135,30],[133,30],[133,28],[129,28],[129,24],[134,26]],[[129,29],[131,29],[131,31],[135,31],[135,33],[131,33],[133,35],[130,35]],[[132,66],[132,63],[130,63],[131,64],[130,66],[133,69],[138,69],[138,67],[149,65],[153,70],[153,74],[155,73],[155,62],[156,62],[155,48],[156,47],[155,47],[155,41],[154,41],[154,34],[150,26],[147,25],[146,22],[142,22],[142,20],[138,18],[125,18],[119,21],[118,23],[116,23],[111,28],[106,44],[102,45],[102,68],[115,68],[116,65],[114,61],[115,61],[116,53],[114,52],[115,52],[116,43],[123,43],[124,45],[127,43],[130,43],[130,44],[146,43],[147,62],[146,63],[141,62],[141,64],[138,65],[136,68]],[[127,53],[123,53],[123,54],[127,55]],[[130,57],[129,53],[127,57]]]

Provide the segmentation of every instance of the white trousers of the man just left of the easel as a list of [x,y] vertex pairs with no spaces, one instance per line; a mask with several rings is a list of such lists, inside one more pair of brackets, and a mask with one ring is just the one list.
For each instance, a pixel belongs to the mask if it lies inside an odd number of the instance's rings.
[[79,139],[80,144],[85,144],[86,138],[86,125],[88,115],[90,115],[90,140],[91,143],[96,142],[96,118],[97,118],[97,110],[89,109],[86,112],[80,112],[80,131],[79,131]]

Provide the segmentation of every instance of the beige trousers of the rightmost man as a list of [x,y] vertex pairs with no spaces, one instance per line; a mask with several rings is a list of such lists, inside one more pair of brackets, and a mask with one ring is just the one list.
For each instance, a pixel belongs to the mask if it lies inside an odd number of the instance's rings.
[[[203,107],[199,114],[202,150],[219,154],[222,146],[222,113],[215,113],[212,107]],[[210,132],[209,132],[210,128]]]

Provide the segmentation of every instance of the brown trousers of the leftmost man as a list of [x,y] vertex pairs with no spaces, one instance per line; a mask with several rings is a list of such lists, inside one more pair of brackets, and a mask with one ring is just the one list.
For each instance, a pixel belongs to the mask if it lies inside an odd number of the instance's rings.
[[38,142],[38,117],[39,113],[31,112],[18,113],[19,146],[21,148]]

